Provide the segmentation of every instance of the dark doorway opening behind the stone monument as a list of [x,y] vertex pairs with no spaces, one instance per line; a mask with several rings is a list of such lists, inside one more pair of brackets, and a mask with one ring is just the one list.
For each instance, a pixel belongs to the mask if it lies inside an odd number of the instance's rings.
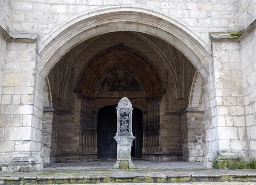
[[[117,128],[116,107],[117,105],[110,105],[99,109],[97,126],[98,159],[116,158],[117,144],[113,138],[116,135]],[[142,157],[142,111],[138,108],[133,110],[132,123],[132,130],[136,138],[131,147],[131,157]]]

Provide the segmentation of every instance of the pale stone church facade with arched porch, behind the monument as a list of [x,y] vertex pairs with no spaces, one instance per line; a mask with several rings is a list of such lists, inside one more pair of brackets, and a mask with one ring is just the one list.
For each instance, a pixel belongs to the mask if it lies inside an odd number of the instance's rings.
[[1,0],[0,167],[115,158],[122,97],[132,157],[253,161],[255,19],[253,0]]

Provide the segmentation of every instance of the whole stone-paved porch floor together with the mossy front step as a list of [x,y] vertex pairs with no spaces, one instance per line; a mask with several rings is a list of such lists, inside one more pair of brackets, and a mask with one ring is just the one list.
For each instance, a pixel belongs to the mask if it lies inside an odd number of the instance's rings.
[[256,170],[216,170],[202,162],[134,161],[134,170],[113,170],[115,161],[55,163],[33,172],[0,172],[0,185],[256,182]]

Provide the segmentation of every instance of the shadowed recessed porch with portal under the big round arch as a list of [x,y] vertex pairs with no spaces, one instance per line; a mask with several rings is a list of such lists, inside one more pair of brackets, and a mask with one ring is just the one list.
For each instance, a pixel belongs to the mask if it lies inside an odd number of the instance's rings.
[[148,34],[113,32],[79,44],[48,75],[49,84],[59,87],[47,99],[58,113],[52,119],[56,161],[116,159],[116,106],[122,97],[138,108],[132,157],[203,161],[203,80],[195,73],[182,52]]

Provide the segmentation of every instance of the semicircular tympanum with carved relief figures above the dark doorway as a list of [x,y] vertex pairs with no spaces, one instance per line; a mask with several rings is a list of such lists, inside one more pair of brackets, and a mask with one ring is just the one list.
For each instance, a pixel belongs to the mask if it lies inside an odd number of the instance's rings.
[[99,91],[144,91],[140,79],[125,68],[115,68],[100,80]]

